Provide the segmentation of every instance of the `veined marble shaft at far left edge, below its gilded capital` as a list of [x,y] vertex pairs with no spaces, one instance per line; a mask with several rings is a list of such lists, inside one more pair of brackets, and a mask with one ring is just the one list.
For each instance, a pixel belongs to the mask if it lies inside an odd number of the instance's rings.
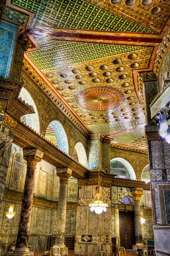
[[13,134],[11,130],[2,126],[0,130],[0,209],[4,194],[6,175],[10,161],[10,153],[12,148]]

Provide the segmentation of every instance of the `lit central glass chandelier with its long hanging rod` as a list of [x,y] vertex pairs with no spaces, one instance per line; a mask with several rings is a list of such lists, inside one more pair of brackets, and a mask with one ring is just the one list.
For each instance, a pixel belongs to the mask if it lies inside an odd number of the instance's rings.
[[[102,98],[99,98],[97,100],[99,102],[99,111],[101,111],[101,102],[103,101]],[[99,154],[98,154],[98,160],[99,160],[99,156],[100,156],[100,127],[99,127],[99,146],[98,146],[99,150]],[[100,161],[98,164],[98,174],[99,174],[99,178],[100,178]],[[108,204],[103,203],[103,196],[101,193],[99,193],[99,179],[98,179],[98,186],[97,186],[97,194],[95,194],[95,201],[93,203],[89,204],[90,210],[91,212],[95,212],[97,214],[101,214],[102,212],[106,212],[108,207]]]

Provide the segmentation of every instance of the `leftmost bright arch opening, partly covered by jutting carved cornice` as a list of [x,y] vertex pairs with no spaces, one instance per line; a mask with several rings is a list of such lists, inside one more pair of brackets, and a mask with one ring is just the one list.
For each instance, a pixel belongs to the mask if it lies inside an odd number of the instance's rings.
[[29,125],[36,132],[40,132],[40,122],[38,117],[38,111],[37,111],[36,104],[32,99],[32,96],[24,87],[22,87],[21,92],[19,94],[19,98],[24,100],[29,105],[33,106],[35,111],[34,114],[27,114],[25,116],[22,116],[21,120],[24,121],[26,125]]

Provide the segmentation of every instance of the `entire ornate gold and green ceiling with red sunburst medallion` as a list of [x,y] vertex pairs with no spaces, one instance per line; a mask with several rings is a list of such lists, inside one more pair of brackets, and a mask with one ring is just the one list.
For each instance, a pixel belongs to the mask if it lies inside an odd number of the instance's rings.
[[7,5],[35,13],[26,32],[39,50],[28,52],[27,61],[81,122],[113,142],[146,148],[137,75],[152,70],[170,1],[13,0]]

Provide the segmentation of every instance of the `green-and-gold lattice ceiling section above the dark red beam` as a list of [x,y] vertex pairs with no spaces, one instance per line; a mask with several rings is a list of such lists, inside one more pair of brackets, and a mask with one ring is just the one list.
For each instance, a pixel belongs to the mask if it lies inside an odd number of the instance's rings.
[[83,0],[14,0],[37,14],[34,26],[154,33]]

